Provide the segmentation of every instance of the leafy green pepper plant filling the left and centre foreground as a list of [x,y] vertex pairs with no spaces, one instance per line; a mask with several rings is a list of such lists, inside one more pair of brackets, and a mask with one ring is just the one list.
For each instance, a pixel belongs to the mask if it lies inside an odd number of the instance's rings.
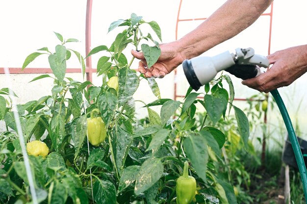
[[[151,26],[152,34],[142,32],[144,24]],[[217,127],[233,108],[234,131],[248,149],[249,123],[243,111],[232,105],[230,77],[221,75],[206,84],[203,92],[189,88],[182,101],[161,99],[155,79],[134,71],[134,58],[128,61],[130,56],[123,53],[129,45],[141,49],[151,67],[160,55],[159,43],[153,39],[157,36],[161,41],[160,27],[134,13],[130,19],[111,23],[108,31],[115,27],[123,31],[114,42],[86,56],[103,53],[97,64],[97,75],[102,76],[99,86],[65,77],[72,53],[84,77],[84,58],[66,48],[76,39],[65,40],[55,33],[60,40],[55,51],[42,48],[26,57],[23,68],[47,54],[54,75],[32,80],[53,78],[50,95],[17,105],[26,142],[42,141],[50,150],[46,157],[29,155],[39,203],[180,204],[178,196],[185,200],[186,195],[190,201],[193,194],[192,203],[237,203],[231,180],[220,172],[225,170],[220,164],[227,137]],[[133,99],[140,80],[148,80],[156,101],[146,104]],[[229,92],[223,81],[229,84]],[[0,90],[0,120],[6,127],[0,133],[0,202],[31,203],[11,97],[16,96],[9,95],[7,88]],[[147,119],[135,118],[136,102],[144,104]],[[206,110],[201,121],[196,120],[197,105]],[[153,106],[160,106],[160,113]],[[100,122],[93,126],[93,119]],[[176,191],[183,169],[185,176],[189,169],[190,177],[195,178],[195,192],[182,189],[183,180]]]

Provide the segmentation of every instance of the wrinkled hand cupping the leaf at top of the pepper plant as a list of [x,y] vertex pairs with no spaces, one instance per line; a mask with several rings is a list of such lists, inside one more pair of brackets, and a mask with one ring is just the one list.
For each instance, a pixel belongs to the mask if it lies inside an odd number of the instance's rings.
[[141,61],[139,62],[138,71],[144,74],[145,77],[163,78],[165,75],[177,68],[184,58],[182,57],[177,42],[160,44],[161,55],[152,67],[148,68],[146,60],[142,52],[131,51],[131,54]]

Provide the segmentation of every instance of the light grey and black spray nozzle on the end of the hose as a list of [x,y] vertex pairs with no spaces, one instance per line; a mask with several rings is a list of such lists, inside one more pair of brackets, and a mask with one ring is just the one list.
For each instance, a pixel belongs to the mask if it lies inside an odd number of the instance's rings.
[[259,76],[263,73],[260,67],[269,65],[269,60],[255,54],[253,48],[237,48],[235,54],[225,51],[213,57],[199,56],[182,62],[185,77],[194,90],[211,81],[222,70],[244,80]]

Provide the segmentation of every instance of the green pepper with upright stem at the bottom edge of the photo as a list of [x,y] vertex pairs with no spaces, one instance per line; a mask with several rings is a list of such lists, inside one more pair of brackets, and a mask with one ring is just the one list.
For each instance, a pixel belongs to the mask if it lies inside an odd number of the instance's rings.
[[177,204],[189,204],[195,197],[196,180],[194,177],[189,176],[188,169],[189,163],[185,161],[183,167],[183,174],[177,179]]

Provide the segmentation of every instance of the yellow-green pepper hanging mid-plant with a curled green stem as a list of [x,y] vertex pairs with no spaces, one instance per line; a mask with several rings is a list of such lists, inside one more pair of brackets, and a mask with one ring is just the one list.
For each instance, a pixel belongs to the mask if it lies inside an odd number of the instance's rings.
[[87,119],[87,136],[88,141],[94,145],[100,145],[106,136],[105,125],[101,117],[98,117],[99,110],[93,109],[91,112],[91,118]]

